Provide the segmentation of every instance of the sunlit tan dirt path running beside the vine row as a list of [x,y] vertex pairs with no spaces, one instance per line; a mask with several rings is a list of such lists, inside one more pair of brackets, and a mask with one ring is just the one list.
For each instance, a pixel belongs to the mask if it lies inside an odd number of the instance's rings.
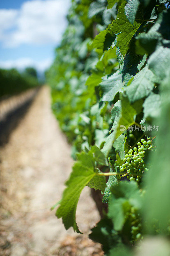
[[[72,229],[66,231],[62,220],[49,210],[61,197],[73,161],[70,146],[51,112],[48,87],[38,92],[8,144],[1,148],[0,159],[0,255],[80,255],[59,252],[61,243],[68,246],[71,241],[69,246],[77,246],[77,239],[82,241],[85,236],[77,238]],[[87,233],[99,219],[85,188],[78,204],[78,226]],[[94,253],[100,246],[83,241],[91,250],[85,253],[97,255]]]

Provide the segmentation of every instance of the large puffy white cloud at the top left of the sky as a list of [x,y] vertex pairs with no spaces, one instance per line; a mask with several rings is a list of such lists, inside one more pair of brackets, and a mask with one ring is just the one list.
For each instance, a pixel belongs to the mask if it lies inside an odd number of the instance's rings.
[[[4,47],[59,43],[66,28],[70,0],[32,0],[19,10],[0,10],[0,40]],[[2,26],[1,26],[2,25]]]

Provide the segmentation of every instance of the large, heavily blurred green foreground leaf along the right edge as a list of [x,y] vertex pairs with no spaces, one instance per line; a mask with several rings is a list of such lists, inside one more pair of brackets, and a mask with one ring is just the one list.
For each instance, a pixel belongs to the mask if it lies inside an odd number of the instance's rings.
[[155,219],[159,221],[159,234],[165,234],[169,226],[170,158],[167,156],[170,154],[170,68],[166,70],[166,77],[161,83],[160,95],[161,115],[152,123],[159,126],[155,141],[157,150],[150,155],[149,163],[152,165],[144,180],[147,189],[143,202],[143,215],[148,234],[155,233],[153,221]]

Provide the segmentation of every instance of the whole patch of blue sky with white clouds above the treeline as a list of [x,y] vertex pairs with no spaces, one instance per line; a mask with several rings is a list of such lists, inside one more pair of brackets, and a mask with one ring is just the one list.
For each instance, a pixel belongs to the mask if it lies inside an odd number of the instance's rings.
[[70,0],[0,0],[0,67],[48,68],[69,6]]

